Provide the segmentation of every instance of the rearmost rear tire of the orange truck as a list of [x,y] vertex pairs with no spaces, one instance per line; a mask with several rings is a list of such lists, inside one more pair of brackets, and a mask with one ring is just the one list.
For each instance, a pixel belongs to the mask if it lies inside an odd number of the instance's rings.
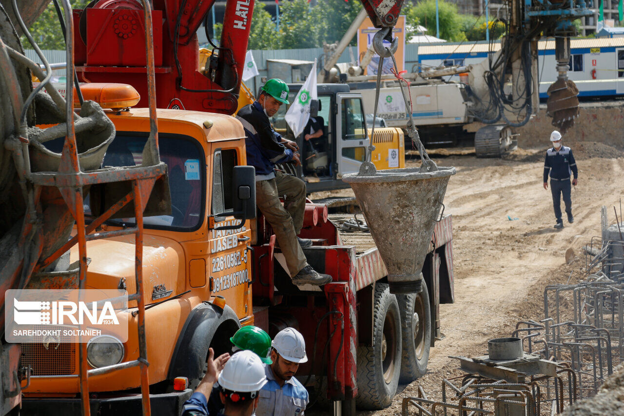
[[431,349],[431,309],[427,284],[420,293],[397,295],[401,311],[401,383],[411,383],[427,372]]

